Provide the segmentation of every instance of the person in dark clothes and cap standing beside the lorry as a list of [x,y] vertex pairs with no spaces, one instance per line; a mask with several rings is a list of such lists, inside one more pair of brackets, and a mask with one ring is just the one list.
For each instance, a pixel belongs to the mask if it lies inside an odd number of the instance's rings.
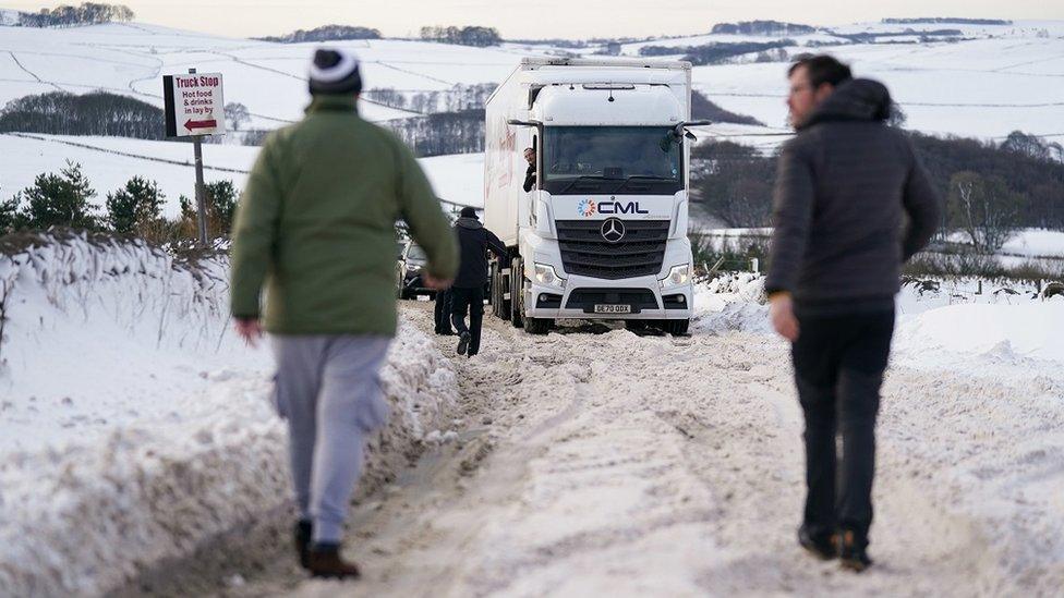
[[[455,222],[460,251],[460,266],[450,289],[451,322],[458,331],[458,354],[472,357],[481,349],[481,324],[484,318],[484,285],[487,283],[487,252],[505,259],[506,246],[495,233],[476,219],[476,210],[462,208]],[[469,316],[469,326],[466,317]]]

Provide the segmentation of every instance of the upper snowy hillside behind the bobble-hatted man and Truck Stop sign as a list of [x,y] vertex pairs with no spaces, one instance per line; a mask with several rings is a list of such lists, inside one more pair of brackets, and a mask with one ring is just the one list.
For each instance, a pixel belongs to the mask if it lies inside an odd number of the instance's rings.
[[[306,65],[317,47],[214,37],[138,23],[56,29],[2,27],[0,42],[0,105],[31,94],[104,89],[161,108],[162,75],[195,68],[225,75],[226,101],[245,105],[253,129],[273,129],[302,117],[307,101]],[[407,91],[497,83],[522,56],[516,53],[520,50],[506,48],[400,40],[335,46],[358,52],[367,87]],[[418,114],[370,102],[363,102],[361,110],[371,121]]]

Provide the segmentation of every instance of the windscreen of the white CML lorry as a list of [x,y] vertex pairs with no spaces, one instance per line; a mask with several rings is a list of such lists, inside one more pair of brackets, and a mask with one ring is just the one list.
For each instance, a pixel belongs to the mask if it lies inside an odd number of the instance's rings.
[[554,195],[672,195],[684,188],[681,156],[667,126],[547,126],[543,188]]

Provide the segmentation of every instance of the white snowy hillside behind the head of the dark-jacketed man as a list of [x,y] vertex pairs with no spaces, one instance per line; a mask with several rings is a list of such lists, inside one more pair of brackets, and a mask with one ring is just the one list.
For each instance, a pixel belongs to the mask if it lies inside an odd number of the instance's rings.
[[[1012,131],[1064,138],[1064,22],[1017,21],[1004,26],[955,24],[855,24],[833,27],[838,33],[890,32],[912,28],[960,29],[963,41],[914,45],[848,44],[823,49],[824,34],[788,36],[798,45],[791,54],[826,51],[849,62],[857,76],[886,84],[907,115],[906,126],[926,133],[965,137],[1003,137]],[[1044,36],[1044,37],[1043,37]],[[651,42],[687,46],[708,41],[772,41],[766,37],[699,36]],[[839,41],[835,38],[835,41]],[[640,46],[625,46],[638,54]],[[694,83],[723,108],[750,114],[770,127],[786,125],[788,63],[743,63],[694,69]],[[741,139],[741,137],[736,137]],[[755,137],[746,139],[758,142]],[[771,139],[760,141],[774,145]]]

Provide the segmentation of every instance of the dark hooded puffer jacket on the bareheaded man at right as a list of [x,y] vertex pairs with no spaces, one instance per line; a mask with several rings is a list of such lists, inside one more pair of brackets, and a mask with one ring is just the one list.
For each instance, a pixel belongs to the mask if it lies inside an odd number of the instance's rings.
[[849,81],[784,146],[770,293],[842,310],[897,293],[902,263],[930,241],[942,206],[908,138],[884,124],[890,109],[882,84]]

